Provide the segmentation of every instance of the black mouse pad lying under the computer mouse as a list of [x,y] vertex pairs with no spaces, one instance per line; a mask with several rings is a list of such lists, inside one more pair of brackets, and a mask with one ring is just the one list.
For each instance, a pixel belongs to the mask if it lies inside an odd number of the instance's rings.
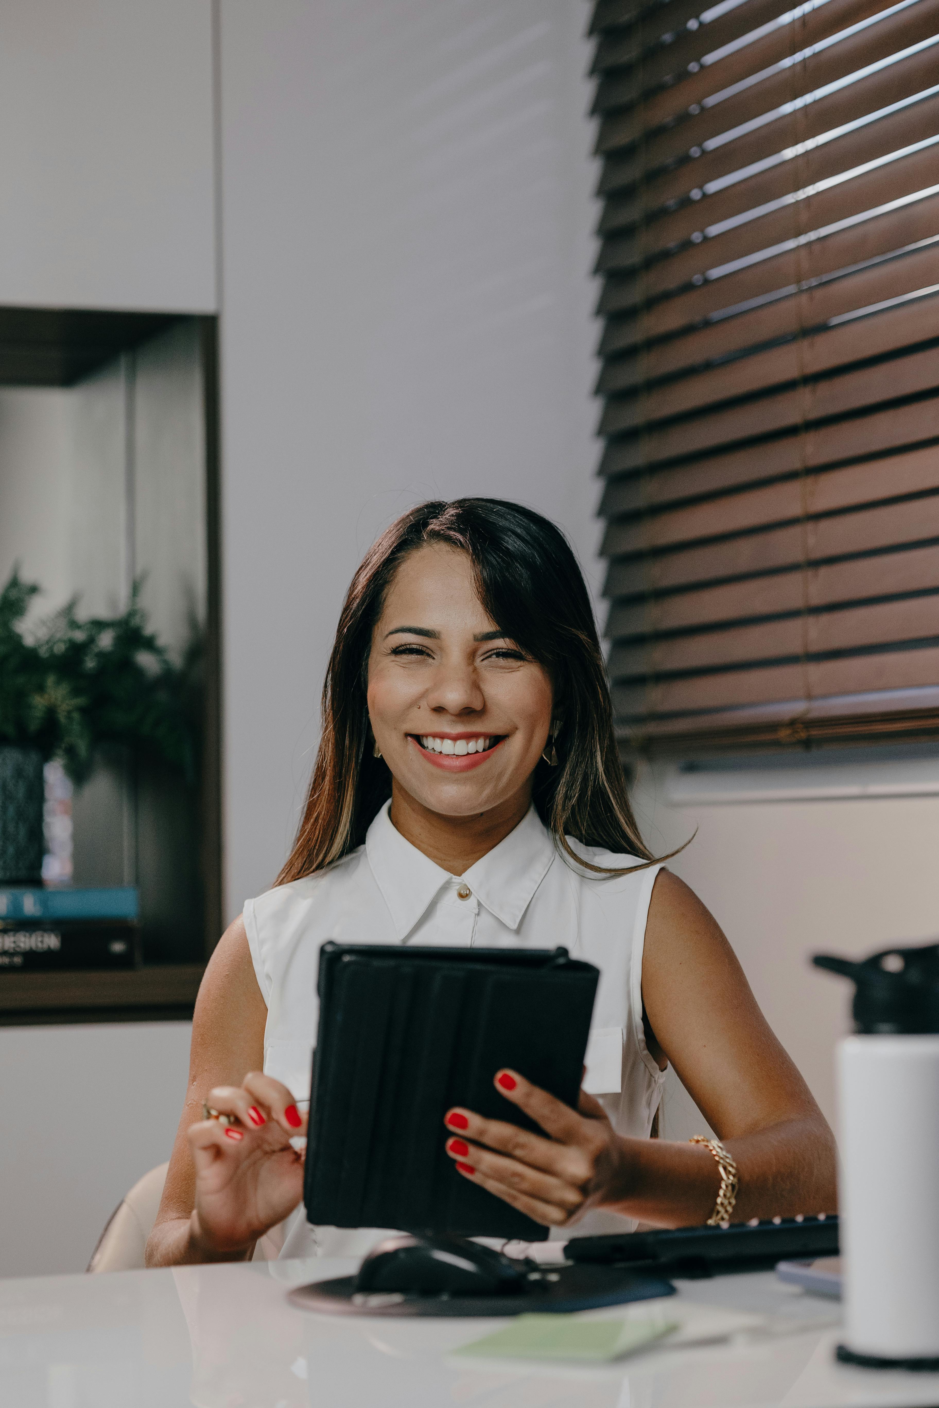
[[[572,1311],[595,1311],[605,1305],[625,1305],[628,1301],[652,1301],[660,1295],[674,1295],[672,1281],[653,1276],[638,1276],[618,1266],[545,1266],[542,1280],[534,1283],[527,1295],[400,1295],[377,1293],[356,1294],[355,1276],[341,1276],[334,1281],[314,1281],[290,1291],[290,1300],[304,1311],[320,1315],[380,1315],[380,1316],[504,1316],[546,1314],[565,1315]],[[553,1278],[556,1277],[556,1280]]]

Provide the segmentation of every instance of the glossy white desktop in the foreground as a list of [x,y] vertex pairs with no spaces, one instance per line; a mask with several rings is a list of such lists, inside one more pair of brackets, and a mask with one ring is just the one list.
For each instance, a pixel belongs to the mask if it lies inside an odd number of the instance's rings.
[[[3,1408],[914,1408],[939,1374],[849,1369],[836,1329],[657,1347],[603,1369],[448,1357],[498,1321],[296,1309],[287,1290],[349,1262],[182,1267],[0,1281]],[[836,1304],[771,1273],[681,1281],[681,1300],[831,1322]],[[646,1302],[649,1304],[649,1302]],[[604,1311],[601,1314],[615,1314]],[[501,1322],[504,1324],[504,1322]]]

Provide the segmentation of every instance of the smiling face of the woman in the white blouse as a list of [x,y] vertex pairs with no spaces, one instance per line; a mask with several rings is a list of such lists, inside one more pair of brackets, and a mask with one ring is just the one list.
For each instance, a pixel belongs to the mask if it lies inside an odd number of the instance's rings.
[[490,620],[465,552],[428,545],[398,567],[372,638],[369,717],[396,783],[438,815],[531,796],[550,679]]

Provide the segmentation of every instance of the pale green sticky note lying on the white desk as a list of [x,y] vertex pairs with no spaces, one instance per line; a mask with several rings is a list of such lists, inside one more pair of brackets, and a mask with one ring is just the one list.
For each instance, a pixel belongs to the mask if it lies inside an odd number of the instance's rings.
[[677,1329],[666,1319],[581,1319],[579,1315],[518,1315],[504,1329],[474,1339],[456,1354],[479,1359],[579,1359],[603,1363],[632,1354]]

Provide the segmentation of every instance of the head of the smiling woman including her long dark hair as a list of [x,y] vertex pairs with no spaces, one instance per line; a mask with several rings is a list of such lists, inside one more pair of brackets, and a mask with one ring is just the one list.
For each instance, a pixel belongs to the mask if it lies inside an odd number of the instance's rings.
[[[379,538],[339,617],[322,719],[280,884],[362,845],[393,791],[396,828],[445,869],[452,842],[443,836],[456,842],[465,867],[467,818],[480,814],[472,822],[480,831],[474,860],[532,801],[572,860],[583,857],[569,835],[626,853],[632,865],[652,860],[626,796],[583,574],[563,534],[519,504],[421,504]],[[474,758],[479,739],[489,741],[490,766],[458,763],[460,738],[467,756],[476,741]],[[473,781],[448,786],[442,776],[463,772]],[[442,790],[429,796],[432,786]]]

